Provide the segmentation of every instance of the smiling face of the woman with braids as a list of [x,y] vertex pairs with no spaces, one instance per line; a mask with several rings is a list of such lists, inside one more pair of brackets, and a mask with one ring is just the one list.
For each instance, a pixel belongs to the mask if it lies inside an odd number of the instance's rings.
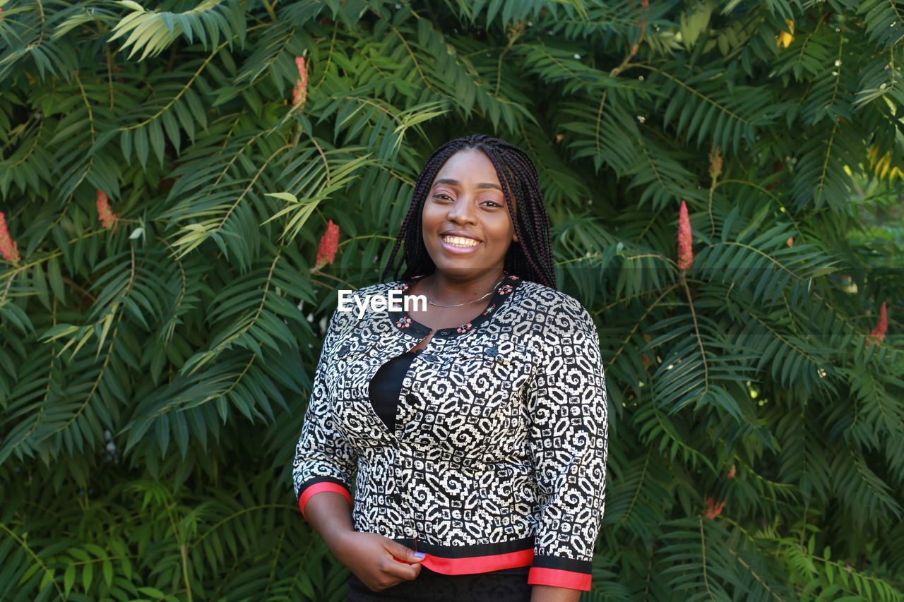
[[502,184],[490,159],[475,148],[458,151],[433,180],[421,212],[424,245],[437,270],[476,277],[504,268],[514,240]]

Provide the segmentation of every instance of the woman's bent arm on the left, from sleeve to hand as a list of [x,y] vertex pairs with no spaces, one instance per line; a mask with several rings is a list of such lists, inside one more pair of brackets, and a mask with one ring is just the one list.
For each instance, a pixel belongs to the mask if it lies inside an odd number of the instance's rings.
[[416,578],[423,555],[417,557],[414,550],[376,533],[354,531],[351,484],[357,454],[335,428],[325,378],[330,354],[349,319],[349,312],[336,311],[330,320],[298,439],[293,481],[302,515],[324,538],[336,560],[368,588],[380,590]]

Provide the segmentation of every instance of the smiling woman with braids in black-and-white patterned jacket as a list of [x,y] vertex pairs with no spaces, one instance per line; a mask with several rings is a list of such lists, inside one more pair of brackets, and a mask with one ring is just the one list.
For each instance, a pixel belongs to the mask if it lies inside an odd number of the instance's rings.
[[555,289],[531,160],[491,136],[440,146],[390,265],[402,242],[402,278],[354,296],[428,304],[334,313],[297,447],[302,513],[352,570],[348,600],[577,600],[606,390],[592,319]]

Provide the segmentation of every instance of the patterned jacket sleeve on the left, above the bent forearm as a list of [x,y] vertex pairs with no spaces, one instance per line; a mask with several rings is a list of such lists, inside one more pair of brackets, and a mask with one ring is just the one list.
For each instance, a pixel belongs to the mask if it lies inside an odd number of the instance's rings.
[[330,320],[317,362],[305,423],[298,438],[292,480],[302,515],[308,500],[325,491],[343,494],[349,503],[353,503],[351,491],[357,456],[335,428],[330,403],[332,391],[326,378],[331,352],[351,317],[351,312],[336,310]]

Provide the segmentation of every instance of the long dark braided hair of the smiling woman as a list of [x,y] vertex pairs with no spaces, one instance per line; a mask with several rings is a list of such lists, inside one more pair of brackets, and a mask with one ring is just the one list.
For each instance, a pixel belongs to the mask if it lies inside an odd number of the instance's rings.
[[[547,287],[556,287],[555,270],[552,268],[552,240],[550,237],[550,218],[543,203],[540,192],[540,180],[531,158],[518,146],[493,136],[475,134],[450,140],[439,146],[427,160],[427,165],[418,177],[411,194],[411,206],[405,220],[402,221],[399,236],[392,248],[390,260],[383,269],[385,280],[402,242],[405,243],[403,259],[405,271],[402,279],[419,274],[432,274],[436,264],[427,252],[421,233],[421,211],[427,199],[427,193],[433,185],[439,169],[446,164],[449,157],[460,150],[476,148],[486,155],[496,170],[499,183],[502,184],[505,204],[512,217],[515,234],[518,240],[513,241],[505,253],[504,269],[525,280],[532,280]],[[514,196],[514,202],[512,199]],[[518,212],[514,212],[514,204],[518,204]],[[393,270],[393,277],[398,280],[401,263]]]

